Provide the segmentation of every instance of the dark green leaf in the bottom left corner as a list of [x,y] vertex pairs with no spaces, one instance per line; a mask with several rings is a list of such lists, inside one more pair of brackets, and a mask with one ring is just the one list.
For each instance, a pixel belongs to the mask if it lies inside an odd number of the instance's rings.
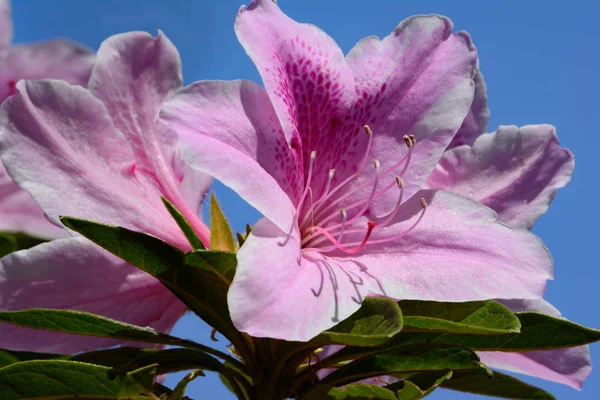
[[25,361],[0,368],[2,400],[151,398],[156,366],[116,379],[108,367],[74,361]]

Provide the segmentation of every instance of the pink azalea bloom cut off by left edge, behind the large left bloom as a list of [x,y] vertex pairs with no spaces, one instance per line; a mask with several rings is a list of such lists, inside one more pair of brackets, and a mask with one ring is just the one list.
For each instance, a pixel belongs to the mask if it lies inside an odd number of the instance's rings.
[[[86,85],[94,56],[64,39],[11,46],[10,3],[0,0],[0,103],[16,91],[20,79],[56,78]],[[14,184],[0,164],[0,232],[23,232],[53,239],[66,232],[50,223],[31,196]]]

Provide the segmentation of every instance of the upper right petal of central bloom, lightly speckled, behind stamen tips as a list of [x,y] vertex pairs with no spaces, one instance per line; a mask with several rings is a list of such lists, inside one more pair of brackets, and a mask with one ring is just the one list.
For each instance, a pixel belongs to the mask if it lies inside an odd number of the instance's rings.
[[382,170],[406,154],[403,135],[416,137],[412,161],[402,176],[410,197],[469,111],[477,52],[468,34],[452,34],[450,20],[431,15],[401,22],[383,40],[361,40],[347,60],[363,100],[353,112],[362,116],[359,123],[373,129],[372,157]]

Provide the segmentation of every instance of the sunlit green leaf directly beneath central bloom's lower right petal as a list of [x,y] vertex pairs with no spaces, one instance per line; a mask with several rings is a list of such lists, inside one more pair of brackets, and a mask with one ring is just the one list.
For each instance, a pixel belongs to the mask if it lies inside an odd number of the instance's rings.
[[497,335],[519,332],[519,319],[495,301],[438,303],[405,300],[399,303],[404,332],[449,332]]

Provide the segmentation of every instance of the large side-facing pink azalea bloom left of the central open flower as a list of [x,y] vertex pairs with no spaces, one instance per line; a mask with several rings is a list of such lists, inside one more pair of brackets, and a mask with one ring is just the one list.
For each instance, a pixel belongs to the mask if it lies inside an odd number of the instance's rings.
[[[181,86],[181,64],[162,34],[107,39],[88,88],[20,81],[2,105],[0,155],[54,222],[69,215],[158,236],[189,250],[165,209],[174,203],[203,243],[198,212],[211,179],[190,169],[175,135],[158,124]],[[168,332],[185,306],[150,275],[87,239],[58,239],[0,260],[0,308],[71,308]],[[0,325],[0,347],[71,353],[114,340]]]

